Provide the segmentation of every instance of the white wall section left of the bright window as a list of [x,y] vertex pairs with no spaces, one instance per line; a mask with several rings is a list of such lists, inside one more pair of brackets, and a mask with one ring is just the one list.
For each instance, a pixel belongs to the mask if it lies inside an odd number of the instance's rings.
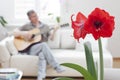
[[[10,25],[22,25],[22,20],[17,20],[14,17],[14,0],[0,0],[0,15],[8,21]],[[24,22],[26,23],[26,22]]]

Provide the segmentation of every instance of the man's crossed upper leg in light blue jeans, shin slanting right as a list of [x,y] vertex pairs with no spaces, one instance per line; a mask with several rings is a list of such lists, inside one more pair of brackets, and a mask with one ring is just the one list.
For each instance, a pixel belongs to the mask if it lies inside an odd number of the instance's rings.
[[[40,55],[42,52],[42,56],[44,56],[44,59],[50,64],[52,67],[57,67],[59,64],[56,62],[55,58],[53,57],[50,48],[48,47],[47,43],[42,42],[33,45],[30,50],[30,55]],[[41,56],[39,56],[41,57]]]

